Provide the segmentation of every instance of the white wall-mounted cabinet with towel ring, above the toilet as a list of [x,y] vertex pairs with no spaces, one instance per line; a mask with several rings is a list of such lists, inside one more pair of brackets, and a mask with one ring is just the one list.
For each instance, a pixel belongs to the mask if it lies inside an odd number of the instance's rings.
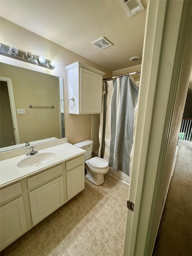
[[68,65],[66,69],[69,113],[101,113],[102,84],[105,73],[81,62]]

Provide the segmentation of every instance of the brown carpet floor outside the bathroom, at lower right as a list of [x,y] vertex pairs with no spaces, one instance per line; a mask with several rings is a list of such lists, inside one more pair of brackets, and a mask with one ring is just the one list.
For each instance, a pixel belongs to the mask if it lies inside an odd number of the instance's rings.
[[192,255],[192,142],[179,140],[153,256]]

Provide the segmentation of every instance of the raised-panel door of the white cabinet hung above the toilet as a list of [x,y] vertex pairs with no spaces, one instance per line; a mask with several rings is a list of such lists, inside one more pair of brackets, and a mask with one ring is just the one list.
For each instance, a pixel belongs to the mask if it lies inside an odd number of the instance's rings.
[[82,114],[101,113],[103,76],[80,68]]

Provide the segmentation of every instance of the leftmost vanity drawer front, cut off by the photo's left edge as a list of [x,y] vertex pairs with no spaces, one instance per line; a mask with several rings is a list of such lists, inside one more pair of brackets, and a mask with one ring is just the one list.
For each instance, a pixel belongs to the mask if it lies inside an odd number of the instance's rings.
[[7,188],[1,189],[1,203],[16,197],[22,193],[21,182],[17,182],[13,185],[8,186]]

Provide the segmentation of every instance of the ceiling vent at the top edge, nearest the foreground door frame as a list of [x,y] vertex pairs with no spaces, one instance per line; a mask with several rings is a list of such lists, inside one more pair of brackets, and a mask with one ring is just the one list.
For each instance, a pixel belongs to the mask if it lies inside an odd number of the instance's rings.
[[120,0],[120,1],[122,2],[122,5],[128,12],[129,16],[133,16],[145,9],[141,0]]

